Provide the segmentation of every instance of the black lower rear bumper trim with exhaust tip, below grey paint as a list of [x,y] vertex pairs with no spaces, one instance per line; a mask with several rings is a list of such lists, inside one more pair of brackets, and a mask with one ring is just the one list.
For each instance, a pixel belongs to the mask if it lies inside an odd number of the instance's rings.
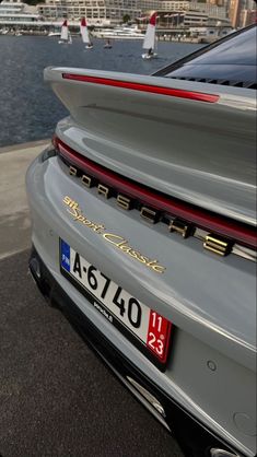
[[[118,375],[119,379],[130,390],[137,390],[137,397],[145,406],[149,401],[149,409],[154,411],[154,415],[172,431],[185,456],[225,457],[235,455],[243,457],[243,454],[233,452],[203,424],[180,408],[104,337],[55,280],[34,247],[30,259],[30,270],[40,292],[50,304],[63,313],[72,327]],[[221,450],[211,454],[211,449]]]

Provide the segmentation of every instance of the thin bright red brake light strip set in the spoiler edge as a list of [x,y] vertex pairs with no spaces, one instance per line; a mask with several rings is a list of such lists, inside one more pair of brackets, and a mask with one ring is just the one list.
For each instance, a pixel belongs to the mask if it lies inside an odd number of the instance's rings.
[[107,78],[86,77],[84,74],[62,73],[65,80],[89,82],[93,84],[110,85],[114,87],[129,89],[132,91],[150,92],[152,94],[167,95],[171,97],[188,98],[198,102],[217,103],[219,95],[205,94],[201,92],[184,91],[180,89],[162,87],[153,84],[140,84],[137,82],[119,81]]

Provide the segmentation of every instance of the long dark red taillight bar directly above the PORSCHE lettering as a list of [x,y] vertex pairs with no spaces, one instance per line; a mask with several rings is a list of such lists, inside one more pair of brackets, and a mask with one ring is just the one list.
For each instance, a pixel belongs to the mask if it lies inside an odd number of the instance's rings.
[[254,227],[246,226],[236,221],[227,220],[172,197],[155,194],[153,190],[150,190],[142,185],[132,183],[115,172],[110,172],[104,166],[94,163],[90,159],[85,159],[83,155],[65,144],[57,137],[55,137],[54,143],[65,159],[69,160],[73,165],[78,165],[79,168],[82,168],[85,173],[89,173],[89,175],[96,177],[103,184],[115,188],[119,192],[124,192],[131,198],[140,200],[155,210],[165,211],[172,215],[182,218],[187,222],[191,222],[200,228],[230,237],[234,242],[241,242],[243,245],[248,247],[256,247],[256,232]]

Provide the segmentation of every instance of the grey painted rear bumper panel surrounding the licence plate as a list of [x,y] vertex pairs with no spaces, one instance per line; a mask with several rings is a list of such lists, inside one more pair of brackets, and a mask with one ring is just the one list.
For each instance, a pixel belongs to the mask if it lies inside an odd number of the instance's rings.
[[[255,437],[242,434],[232,418],[242,409],[243,399],[243,411],[253,418],[253,424],[256,421],[253,410],[255,265],[235,256],[221,259],[206,253],[194,238],[184,241],[166,233],[161,224],[149,225],[138,213],[128,214],[117,209],[112,200],[108,200],[106,211],[106,201],[96,195],[95,189],[86,191],[77,178],[70,178],[58,159],[31,166],[27,191],[34,220],[33,242],[61,286],[154,383],[211,430],[253,456]],[[149,271],[104,243],[94,232],[75,224],[61,203],[66,195],[80,203],[89,219],[104,223],[109,232],[125,236],[143,254],[156,256],[167,268],[165,273]],[[59,236],[116,283],[178,327],[174,358],[165,374],[160,373],[115,328],[109,327],[107,320],[60,276]],[[212,375],[206,367],[209,360],[214,361],[219,368],[214,374],[219,379],[215,395],[211,384],[208,384]],[[205,376],[202,373],[198,376],[199,364]],[[233,366],[233,371],[227,371],[229,366]],[[230,396],[226,392],[227,375],[232,385]],[[247,389],[245,379],[248,379]]]

